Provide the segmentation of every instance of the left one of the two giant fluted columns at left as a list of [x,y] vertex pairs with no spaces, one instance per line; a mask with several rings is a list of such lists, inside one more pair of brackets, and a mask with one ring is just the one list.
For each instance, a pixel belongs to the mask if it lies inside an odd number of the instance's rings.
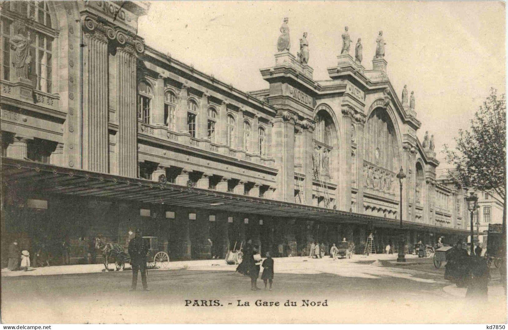
[[[85,24],[86,26],[86,24]],[[87,29],[83,29],[88,32]],[[94,30],[83,35],[83,170],[109,172],[109,81],[108,81],[108,38]],[[136,63],[134,63],[136,67]],[[136,74],[134,74],[134,81]],[[136,91],[133,93],[136,102]],[[135,115],[135,108],[132,115]],[[134,133],[135,134],[135,133]],[[133,137],[136,138],[136,137]],[[134,158],[128,176],[135,177],[137,158]],[[123,174],[121,174],[123,175]]]

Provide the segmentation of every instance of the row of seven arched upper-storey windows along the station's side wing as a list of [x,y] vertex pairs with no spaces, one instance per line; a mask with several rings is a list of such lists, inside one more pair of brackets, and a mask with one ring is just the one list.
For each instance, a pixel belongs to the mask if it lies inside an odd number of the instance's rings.
[[[138,85],[138,120],[143,123],[150,123],[151,101],[153,97],[153,89],[146,82],[140,82]],[[170,130],[176,128],[176,106],[177,97],[172,91],[167,91],[164,95],[164,122]],[[193,138],[196,138],[197,129],[196,122],[199,116],[199,106],[194,100],[187,101],[187,131]],[[217,111],[210,107],[207,111],[207,138],[211,142],[216,142],[216,122]],[[226,119],[226,144],[234,146],[236,120],[228,114]],[[243,122],[243,139],[242,148],[245,151],[250,150],[250,139],[252,136],[252,127],[249,122]],[[262,156],[266,154],[266,131],[262,126],[258,127],[258,146],[257,152]]]

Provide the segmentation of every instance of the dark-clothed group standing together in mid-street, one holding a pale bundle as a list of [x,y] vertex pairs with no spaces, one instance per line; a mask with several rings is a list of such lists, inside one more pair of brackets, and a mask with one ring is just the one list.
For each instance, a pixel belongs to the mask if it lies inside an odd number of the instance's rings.
[[265,290],[268,288],[272,290],[273,284],[273,258],[270,256],[270,252],[266,252],[266,259],[261,263],[261,255],[258,254],[258,250],[252,246],[252,240],[247,240],[243,253],[243,260],[236,268],[236,271],[240,274],[250,277],[250,289],[253,291],[261,290],[258,287],[258,277],[260,273],[260,265],[263,267],[263,274],[261,279],[265,283]]

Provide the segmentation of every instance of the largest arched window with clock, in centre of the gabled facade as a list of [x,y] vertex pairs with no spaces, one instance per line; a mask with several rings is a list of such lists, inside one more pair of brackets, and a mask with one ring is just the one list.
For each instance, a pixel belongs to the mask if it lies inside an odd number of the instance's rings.
[[364,159],[396,172],[400,167],[395,127],[385,109],[372,111],[365,125]]

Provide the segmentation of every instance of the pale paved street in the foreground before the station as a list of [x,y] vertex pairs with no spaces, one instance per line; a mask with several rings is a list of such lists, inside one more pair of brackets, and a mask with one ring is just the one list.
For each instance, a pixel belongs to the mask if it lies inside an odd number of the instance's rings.
[[[379,259],[379,260],[378,260]],[[430,258],[395,265],[395,255],[276,258],[273,291],[251,291],[249,279],[224,260],[172,262],[149,271],[151,291],[130,292],[131,272],[2,275],[2,321],[84,322],[338,322],[499,323],[506,321],[499,273],[492,268],[489,303],[473,306],[465,289],[443,280]],[[418,262],[418,263],[415,263]],[[90,265],[97,266],[97,265]],[[69,267],[69,266],[68,266]],[[72,266],[70,266],[72,267]],[[80,266],[75,266],[80,267]],[[85,266],[81,266],[85,267]],[[47,268],[49,270],[50,268]],[[56,269],[56,267],[54,268]],[[33,275],[42,272],[13,272]],[[24,274],[21,274],[24,273]],[[14,275],[14,274],[10,274]],[[17,274],[16,274],[17,275]],[[263,281],[258,281],[263,286]],[[185,306],[185,300],[219,300],[221,306]],[[249,306],[238,306],[249,302]],[[256,300],[281,306],[257,307]],[[296,307],[285,307],[287,300]],[[328,306],[302,306],[302,300]],[[210,302],[206,302],[211,305]],[[231,304],[231,305],[229,305]],[[23,308],[20,308],[23,306]]]

